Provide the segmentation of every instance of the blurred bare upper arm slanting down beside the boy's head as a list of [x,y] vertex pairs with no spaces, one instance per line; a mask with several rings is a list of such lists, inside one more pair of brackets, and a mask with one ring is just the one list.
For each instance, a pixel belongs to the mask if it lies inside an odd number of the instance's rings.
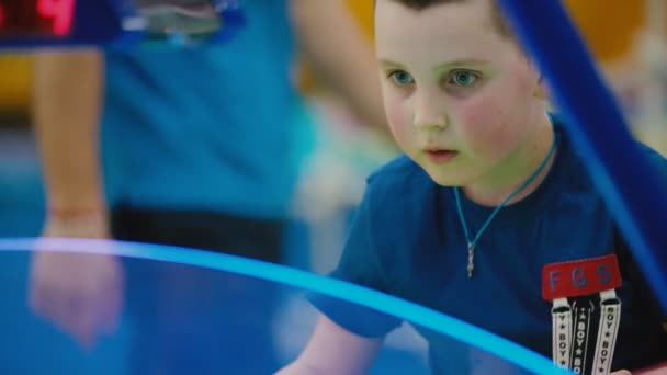
[[344,2],[292,0],[291,14],[315,72],[369,125],[387,133],[373,48]]

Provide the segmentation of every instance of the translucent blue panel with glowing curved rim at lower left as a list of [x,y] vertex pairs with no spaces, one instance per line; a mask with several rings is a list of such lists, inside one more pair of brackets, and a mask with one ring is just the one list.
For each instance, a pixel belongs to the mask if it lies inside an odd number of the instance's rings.
[[[80,271],[82,257],[88,271],[108,275],[104,292],[91,294],[95,304],[52,298],[35,306],[50,311],[52,318],[35,315],[29,307],[34,299],[27,296],[27,275],[37,249],[41,257],[52,257],[50,266],[60,275]],[[120,273],[100,271],[110,254],[120,261]],[[122,294],[109,282],[114,275],[122,276],[115,279],[124,282]],[[111,241],[5,239],[0,240],[0,282],[3,374],[269,374],[306,344],[318,315],[312,302],[328,304],[328,311],[362,329],[404,322],[388,334],[371,374],[561,373],[547,359],[405,300],[212,252]],[[75,284],[97,289],[91,281]],[[81,332],[86,311],[113,318],[121,295],[117,327],[88,345],[66,333],[65,327]],[[431,357],[417,332],[436,344],[437,355]]]

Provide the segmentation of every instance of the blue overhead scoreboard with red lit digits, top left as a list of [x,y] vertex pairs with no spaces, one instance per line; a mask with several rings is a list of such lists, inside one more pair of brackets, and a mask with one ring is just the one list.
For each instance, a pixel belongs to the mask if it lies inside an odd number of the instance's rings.
[[245,23],[238,0],[0,0],[0,49],[224,43]]

